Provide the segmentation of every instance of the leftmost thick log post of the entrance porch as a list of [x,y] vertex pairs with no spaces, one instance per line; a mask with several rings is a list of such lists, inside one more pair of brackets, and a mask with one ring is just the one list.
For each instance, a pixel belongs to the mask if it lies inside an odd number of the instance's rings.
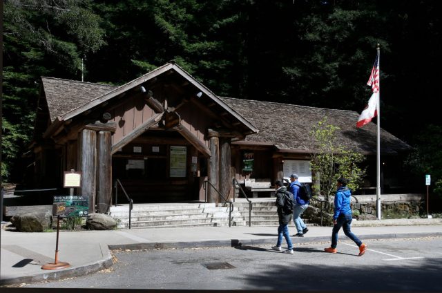
[[78,167],[82,173],[80,196],[87,196],[89,214],[95,213],[96,169],[97,169],[97,133],[83,129],[78,137]]

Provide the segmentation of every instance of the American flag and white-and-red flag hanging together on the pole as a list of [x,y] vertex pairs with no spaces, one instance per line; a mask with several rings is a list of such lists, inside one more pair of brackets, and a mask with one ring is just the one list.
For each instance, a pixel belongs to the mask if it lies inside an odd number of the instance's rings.
[[367,86],[372,86],[372,97],[370,97],[367,106],[365,106],[364,110],[361,113],[361,116],[359,116],[356,127],[364,126],[365,124],[372,121],[373,117],[376,117],[378,115],[377,108],[379,100],[379,55],[376,56],[376,60],[374,61],[372,74],[370,74]]

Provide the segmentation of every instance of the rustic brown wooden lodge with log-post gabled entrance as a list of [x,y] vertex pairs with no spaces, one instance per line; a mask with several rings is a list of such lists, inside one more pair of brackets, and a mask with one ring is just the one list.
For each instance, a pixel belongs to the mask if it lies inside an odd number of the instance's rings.
[[[204,200],[205,180],[224,198],[236,196],[233,177],[267,180],[269,188],[296,172],[311,182],[306,138],[324,117],[340,127],[339,143],[372,158],[374,187],[376,125],[356,129],[356,112],[218,97],[176,64],[122,86],[42,77],[31,181],[62,188],[64,173],[79,171],[75,193],[101,213],[117,180],[134,202]],[[381,141],[383,187],[401,185],[398,164],[411,148],[387,131]],[[222,201],[209,191],[209,202]]]

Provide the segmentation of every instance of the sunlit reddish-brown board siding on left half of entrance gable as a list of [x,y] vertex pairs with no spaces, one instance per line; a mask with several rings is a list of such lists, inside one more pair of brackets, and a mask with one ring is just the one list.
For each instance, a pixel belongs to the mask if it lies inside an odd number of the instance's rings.
[[117,123],[117,130],[112,135],[112,144],[116,144],[126,135],[131,133],[137,126],[140,126],[155,112],[149,108],[140,95],[131,97],[122,106],[115,108],[111,113],[113,121]]

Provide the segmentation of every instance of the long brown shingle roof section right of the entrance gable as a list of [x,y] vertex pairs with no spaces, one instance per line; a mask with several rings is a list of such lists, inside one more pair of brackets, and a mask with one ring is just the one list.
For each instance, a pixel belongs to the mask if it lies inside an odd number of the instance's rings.
[[[267,144],[285,152],[305,152],[314,150],[309,133],[314,126],[327,117],[327,124],[340,128],[337,142],[349,149],[365,154],[376,153],[377,126],[373,122],[356,128],[359,114],[354,111],[314,108],[294,104],[280,104],[253,100],[240,100],[220,97],[260,131],[247,135],[238,144]],[[410,151],[412,147],[391,133],[381,129],[381,153]]]

